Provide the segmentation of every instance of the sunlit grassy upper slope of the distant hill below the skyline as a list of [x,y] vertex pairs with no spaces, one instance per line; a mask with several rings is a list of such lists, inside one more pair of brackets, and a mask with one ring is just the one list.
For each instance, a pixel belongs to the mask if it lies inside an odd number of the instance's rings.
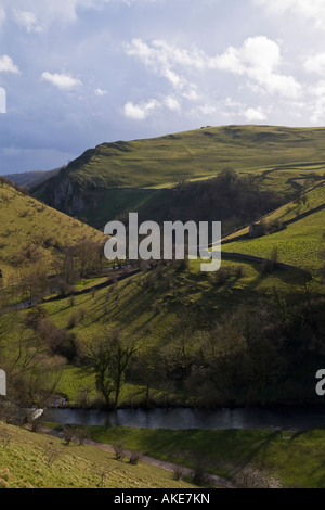
[[[212,177],[226,166],[260,170],[315,162],[323,162],[324,171],[322,128],[208,127],[147,140],[103,143],[88,163],[76,169],[68,167],[67,174],[74,174],[82,184],[107,187],[115,182],[147,188],[174,183],[181,178]],[[306,166],[306,173],[310,170]]]

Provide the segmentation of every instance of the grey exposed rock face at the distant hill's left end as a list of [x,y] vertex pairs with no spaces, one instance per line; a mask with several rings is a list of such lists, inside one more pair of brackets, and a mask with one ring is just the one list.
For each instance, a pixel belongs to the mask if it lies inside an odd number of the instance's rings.
[[69,215],[81,213],[86,206],[80,189],[67,177],[55,183],[52,200],[53,207]]

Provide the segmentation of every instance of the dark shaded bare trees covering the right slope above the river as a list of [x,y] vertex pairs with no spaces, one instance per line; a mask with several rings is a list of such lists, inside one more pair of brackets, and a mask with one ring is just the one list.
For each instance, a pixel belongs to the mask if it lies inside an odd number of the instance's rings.
[[165,404],[314,403],[310,380],[325,362],[324,311],[324,299],[313,301],[308,292],[295,305],[274,292],[268,303],[242,305],[202,329],[199,316],[181,317],[178,310],[180,319],[164,342],[132,357],[129,381],[145,387],[147,407],[157,403],[153,390],[159,398],[164,392]]

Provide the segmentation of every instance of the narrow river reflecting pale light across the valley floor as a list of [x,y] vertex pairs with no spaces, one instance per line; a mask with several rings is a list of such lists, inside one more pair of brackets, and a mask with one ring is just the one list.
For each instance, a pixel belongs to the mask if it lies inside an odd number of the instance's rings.
[[269,429],[304,431],[325,429],[323,408],[239,408],[239,409],[93,409],[52,408],[43,420],[62,424],[133,426],[136,429]]

